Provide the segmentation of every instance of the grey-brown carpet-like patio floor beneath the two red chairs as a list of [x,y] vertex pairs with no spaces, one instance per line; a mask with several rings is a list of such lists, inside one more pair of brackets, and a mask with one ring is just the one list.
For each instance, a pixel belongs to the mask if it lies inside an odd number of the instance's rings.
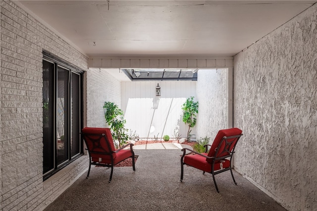
[[180,182],[180,150],[134,150],[136,171],[92,166],[45,211],[286,211],[234,171],[215,175],[184,167]]

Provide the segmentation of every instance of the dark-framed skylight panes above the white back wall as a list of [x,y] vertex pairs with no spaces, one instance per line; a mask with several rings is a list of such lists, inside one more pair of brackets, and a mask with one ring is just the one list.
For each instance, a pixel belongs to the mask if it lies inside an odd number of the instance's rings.
[[121,69],[131,81],[197,81],[197,69]]

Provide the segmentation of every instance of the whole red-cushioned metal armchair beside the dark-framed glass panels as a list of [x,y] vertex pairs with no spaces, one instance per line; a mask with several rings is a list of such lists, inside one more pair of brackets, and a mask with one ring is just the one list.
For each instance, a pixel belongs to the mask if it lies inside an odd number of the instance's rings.
[[[132,158],[132,167],[133,171],[135,171],[134,152],[132,150],[133,144],[126,144],[116,150],[109,128],[85,127],[82,129],[82,135],[89,154],[89,169],[86,178],[89,176],[91,165],[110,167],[110,182],[113,167],[128,158]],[[130,146],[129,150],[124,149],[127,146]]]

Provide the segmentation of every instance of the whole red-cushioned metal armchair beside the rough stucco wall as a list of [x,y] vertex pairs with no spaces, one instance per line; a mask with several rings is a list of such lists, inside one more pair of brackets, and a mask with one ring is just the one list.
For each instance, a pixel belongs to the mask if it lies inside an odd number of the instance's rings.
[[[186,164],[188,166],[202,170],[203,174],[205,174],[205,172],[211,173],[214,186],[216,187],[218,193],[219,189],[214,179],[215,174],[230,170],[233,182],[237,184],[233,177],[231,160],[234,153],[234,148],[242,135],[242,130],[236,127],[222,129],[217,133],[212,145],[205,145],[205,153],[198,153],[188,148],[182,149],[183,156],[180,159],[180,181],[183,181],[184,165]],[[211,146],[209,152],[208,146]],[[194,155],[186,155],[186,151],[193,152]]]

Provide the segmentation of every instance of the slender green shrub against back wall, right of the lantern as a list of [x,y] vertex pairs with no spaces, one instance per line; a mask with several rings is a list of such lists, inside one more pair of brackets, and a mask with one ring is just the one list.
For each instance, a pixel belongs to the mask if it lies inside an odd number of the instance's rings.
[[196,114],[198,113],[198,102],[194,101],[194,97],[189,97],[183,104],[182,110],[183,122],[188,124],[187,140],[190,141],[190,138],[193,136],[193,134],[190,134],[192,131],[190,128],[195,127],[197,121]]

